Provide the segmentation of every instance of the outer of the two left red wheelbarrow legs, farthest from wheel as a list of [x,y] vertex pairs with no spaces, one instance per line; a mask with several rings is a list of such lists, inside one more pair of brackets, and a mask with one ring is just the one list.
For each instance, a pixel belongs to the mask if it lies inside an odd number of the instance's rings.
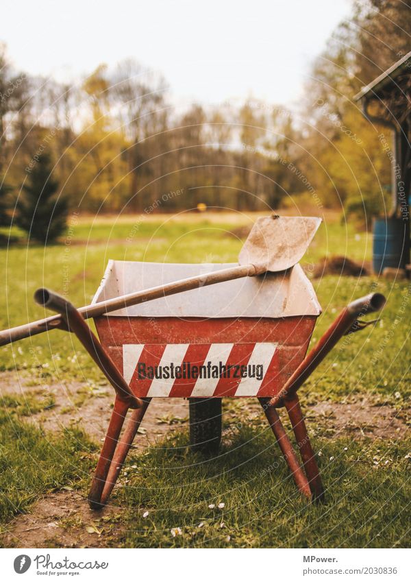
[[103,504],[101,503],[101,494],[103,493],[114,450],[116,450],[121,428],[123,427],[125,415],[127,414],[128,409],[128,404],[116,397],[116,400],[114,400],[114,409],[110,418],[110,424],[108,425],[95,475],[92,478],[90,493],[88,494],[88,502],[91,509],[101,509],[101,507],[103,507]]

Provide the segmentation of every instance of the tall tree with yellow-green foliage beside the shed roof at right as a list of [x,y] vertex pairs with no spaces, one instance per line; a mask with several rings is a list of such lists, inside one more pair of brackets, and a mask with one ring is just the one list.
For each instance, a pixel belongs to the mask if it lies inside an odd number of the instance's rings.
[[364,120],[353,97],[408,52],[410,5],[356,0],[353,16],[338,25],[314,62],[306,90],[301,145],[309,155],[301,169],[325,206],[343,206],[363,223],[386,211],[390,160],[378,138],[384,128]]

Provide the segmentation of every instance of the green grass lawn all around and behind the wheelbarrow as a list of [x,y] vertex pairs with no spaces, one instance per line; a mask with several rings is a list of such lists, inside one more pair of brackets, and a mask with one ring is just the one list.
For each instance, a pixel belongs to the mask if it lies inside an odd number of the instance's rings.
[[[182,263],[235,261],[245,232],[241,227],[247,224],[248,217],[235,222],[228,215],[190,215],[185,220],[153,216],[140,223],[132,217],[116,223],[80,219],[71,225],[62,244],[47,250],[24,244],[3,248],[0,276],[5,288],[1,301],[6,308],[0,315],[0,326],[6,328],[43,317],[44,310],[32,300],[34,290],[40,286],[65,291],[77,305],[90,302],[109,258]],[[303,259],[303,266],[310,273],[312,265],[329,254],[347,254],[362,263],[370,259],[370,239],[364,232],[356,232],[355,226],[329,217]],[[303,403],[351,402],[366,396],[376,405],[386,403],[401,410],[406,420],[411,390],[406,348],[406,314],[411,304],[408,282],[325,276],[313,283],[323,307],[313,342],[350,300],[376,290],[386,295],[388,304],[380,322],[346,338],[316,370],[301,389]],[[5,396],[0,410],[0,521],[5,523],[17,511],[26,511],[47,491],[74,484],[86,494],[88,470],[96,454],[86,437],[77,433],[43,435],[19,419],[53,405],[52,400],[36,391],[45,381],[75,378],[98,384],[101,376],[77,341],[64,332],[43,334],[0,350],[0,369],[17,369],[30,378],[33,387],[23,400],[21,396]],[[77,406],[94,397],[85,390]],[[231,413],[225,416],[226,427],[241,413],[234,404],[237,401],[229,402],[233,404],[229,405]],[[179,422],[169,417],[160,420],[166,424]],[[406,457],[411,450],[410,439],[330,439],[321,423],[310,423],[314,448],[322,452],[319,461],[327,484],[327,505],[314,506],[301,500],[295,491],[269,427],[260,420],[254,422],[251,416],[242,421],[241,428],[234,426],[226,435],[224,448],[216,459],[190,452],[186,433],[161,441],[138,458],[134,453],[127,461],[127,475],[121,478],[125,486],[113,497],[113,503],[126,507],[122,518],[125,521],[104,521],[105,531],[113,535],[110,544],[409,544],[410,501],[406,491],[410,459]],[[223,510],[208,508],[219,502],[225,503]],[[147,518],[142,517],[145,510],[149,511]],[[221,527],[221,522],[225,526]],[[174,537],[173,528],[180,528],[181,533],[176,530]]]

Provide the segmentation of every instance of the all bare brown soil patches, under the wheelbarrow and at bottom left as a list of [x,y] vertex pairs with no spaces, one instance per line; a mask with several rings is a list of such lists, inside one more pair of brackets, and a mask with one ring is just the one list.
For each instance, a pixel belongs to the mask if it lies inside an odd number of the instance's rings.
[[[95,441],[105,435],[114,400],[110,386],[97,389],[74,382],[61,382],[36,387],[16,373],[0,375],[0,398],[3,395],[27,393],[27,400],[38,395],[53,394],[53,408],[40,413],[21,417],[26,422],[34,422],[49,431],[60,431],[75,424],[84,428]],[[1,400],[0,400],[1,402]],[[353,438],[403,438],[409,427],[410,409],[396,409],[386,404],[377,405],[364,398],[348,404],[320,402],[312,407],[304,407],[308,418],[308,428],[319,424],[327,436],[332,438],[351,436]],[[224,404],[225,431],[223,439],[227,444],[230,423],[248,417],[250,422],[266,424],[264,414],[256,399],[226,400]],[[284,417],[284,413],[282,413]],[[169,431],[188,427],[188,402],[182,398],[153,398],[141,431],[134,444],[143,450],[149,444]],[[119,486],[119,485],[117,485]],[[3,547],[14,548],[103,548],[115,547],[119,532],[124,528],[124,511],[115,505],[108,505],[101,511],[91,511],[82,494],[64,490],[40,498],[32,506],[30,513],[18,515],[3,534]],[[129,511],[129,509],[128,509]],[[145,510],[136,508],[140,515]]]

